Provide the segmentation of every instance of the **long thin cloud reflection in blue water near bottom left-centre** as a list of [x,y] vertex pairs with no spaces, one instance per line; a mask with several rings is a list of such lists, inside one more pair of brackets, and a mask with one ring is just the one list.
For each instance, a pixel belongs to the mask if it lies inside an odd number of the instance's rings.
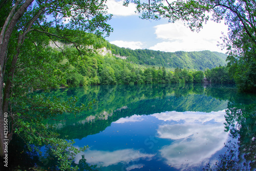
[[[79,160],[82,158],[81,155],[84,155],[87,163],[97,164],[103,167],[115,165],[120,162],[129,163],[130,161],[138,161],[140,159],[150,161],[155,156],[154,154],[141,153],[139,150],[135,149],[120,149],[113,152],[89,149],[86,152],[77,154],[75,163],[79,163]],[[134,166],[134,168],[137,166]]]

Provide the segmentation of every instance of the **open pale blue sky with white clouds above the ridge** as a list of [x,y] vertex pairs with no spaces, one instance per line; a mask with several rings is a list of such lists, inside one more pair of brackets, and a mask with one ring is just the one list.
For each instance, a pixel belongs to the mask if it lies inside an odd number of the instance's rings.
[[182,22],[168,23],[167,19],[142,20],[135,13],[135,5],[122,6],[123,1],[108,0],[108,13],[113,14],[108,22],[114,31],[105,39],[111,44],[130,49],[151,49],[156,51],[203,51],[225,53],[218,47],[222,32],[227,33],[224,22],[209,21],[199,33],[190,31]]

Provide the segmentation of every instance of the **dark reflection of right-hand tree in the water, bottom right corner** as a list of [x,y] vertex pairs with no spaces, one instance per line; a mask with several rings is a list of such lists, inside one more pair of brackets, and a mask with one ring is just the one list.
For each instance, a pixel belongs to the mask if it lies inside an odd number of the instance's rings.
[[256,170],[255,98],[246,95],[230,101],[225,115],[225,131],[230,132],[232,140],[225,145],[227,151],[220,155],[215,165],[208,164],[203,170]]

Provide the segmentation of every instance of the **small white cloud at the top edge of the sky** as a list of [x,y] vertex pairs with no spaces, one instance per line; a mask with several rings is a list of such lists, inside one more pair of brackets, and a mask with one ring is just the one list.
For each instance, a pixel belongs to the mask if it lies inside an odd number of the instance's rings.
[[130,16],[138,15],[135,13],[136,5],[130,4],[128,7],[123,6],[123,1],[110,0],[106,2],[108,6],[108,13],[113,14],[114,16]]

